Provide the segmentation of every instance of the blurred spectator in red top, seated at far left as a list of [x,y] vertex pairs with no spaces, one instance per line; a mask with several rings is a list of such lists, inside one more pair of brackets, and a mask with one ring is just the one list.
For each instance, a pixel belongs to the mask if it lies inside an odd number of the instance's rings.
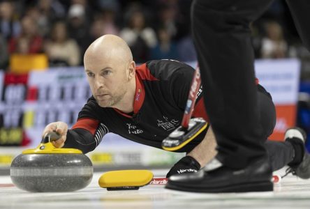
[[[22,51],[20,51],[22,49]],[[27,49],[27,52],[24,50]],[[17,38],[11,38],[8,51],[27,54],[40,53],[43,50],[43,38],[38,34],[36,21],[29,16],[22,18],[22,31]]]

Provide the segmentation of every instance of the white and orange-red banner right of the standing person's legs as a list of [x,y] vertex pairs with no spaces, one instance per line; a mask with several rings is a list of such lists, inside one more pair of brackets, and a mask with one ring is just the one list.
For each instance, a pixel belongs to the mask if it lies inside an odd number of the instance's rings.
[[297,59],[258,60],[255,63],[259,83],[276,104],[276,127],[270,139],[283,141],[288,127],[295,126],[300,86],[300,61]]

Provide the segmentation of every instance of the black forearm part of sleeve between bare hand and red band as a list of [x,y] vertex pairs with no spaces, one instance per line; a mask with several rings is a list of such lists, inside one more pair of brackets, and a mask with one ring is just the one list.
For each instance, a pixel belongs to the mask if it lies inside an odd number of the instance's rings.
[[82,153],[89,153],[96,148],[96,140],[91,132],[82,128],[68,130],[64,148],[76,148]]

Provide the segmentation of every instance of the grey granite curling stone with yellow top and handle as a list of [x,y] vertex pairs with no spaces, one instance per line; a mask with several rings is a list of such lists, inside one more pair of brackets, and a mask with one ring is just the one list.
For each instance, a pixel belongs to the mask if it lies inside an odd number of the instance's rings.
[[10,165],[10,178],[29,192],[73,192],[89,185],[93,166],[80,150],[55,148],[56,132],[43,137],[37,148],[24,150]]

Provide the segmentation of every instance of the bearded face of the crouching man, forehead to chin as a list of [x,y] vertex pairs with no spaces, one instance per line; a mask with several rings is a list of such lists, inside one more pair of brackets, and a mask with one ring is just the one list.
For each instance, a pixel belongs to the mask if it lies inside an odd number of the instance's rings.
[[126,94],[128,65],[119,59],[88,59],[84,62],[87,80],[100,107],[115,107]]

